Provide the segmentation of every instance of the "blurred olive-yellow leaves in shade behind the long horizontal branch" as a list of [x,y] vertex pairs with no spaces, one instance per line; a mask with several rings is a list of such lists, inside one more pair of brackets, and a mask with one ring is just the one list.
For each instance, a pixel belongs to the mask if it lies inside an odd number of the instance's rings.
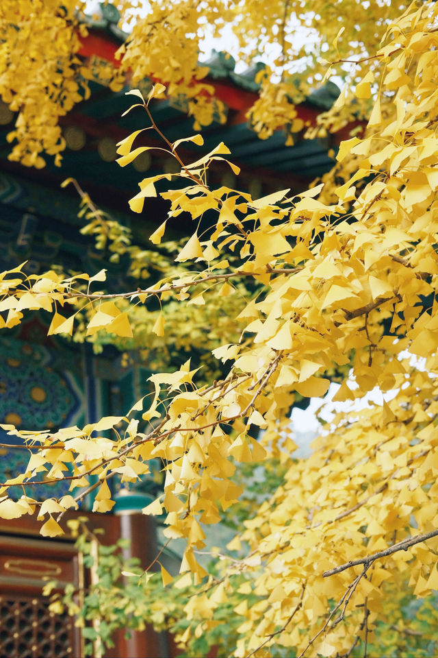
[[[199,142],[199,136],[192,137],[192,141]],[[181,141],[180,141],[181,142]],[[127,142],[124,142],[125,145]],[[175,143],[176,147],[178,141]],[[128,153],[129,155],[129,153]],[[185,263],[175,263],[173,256],[181,250],[180,242],[166,242],[161,245],[160,251],[146,249],[136,245],[132,241],[129,228],[123,226],[107,212],[96,208],[90,197],[84,193],[76,180],[68,179],[62,186],[73,184],[81,196],[79,218],[84,218],[86,223],[81,228],[81,233],[94,236],[96,249],[105,253],[111,262],[118,262],[120,258],[129,258],[127,273],[136,279],[156,278],[159,274],[162,280],[175,279],[183,273],[188,273]],[[159,230],[158,233],[164,232]],[[156,237],[158,240],[158,236]],[[230,254],[229,260],[232,260]],[[192,265],[190,263],[190,265]],[[189,267],[190,267],[189,265]],[[229,265],[224,263],[224,265]],[[200,265],[200,273],[202,265]],[[224,272],[225,274],[225,272]],[[225,274],[227,276],[227,274]],[[253,287],[254,288],[254,287]],[[181,297],[182,295],[182,297]],[[179,300],[189,296],[188,293],[180,293]],[[172,361],[181,359],[181,352],[188,356],[199,356],[203,365],[201,375],[207,378],[218,378],[221,375],[218,361],[211,354],[211,349],[218,348],[222,344],[224,336],[229,340],[237,341],[240,332],[244,328],[244,319],[237,321],[235,314],[245,306],[248,291],[244,282],[232,283],[227,281],[220,287],[199,287],[194,291],[193,300],[188,304],[179,304],[178,300],[160,298],[160,310],[149,310],[143,304],[132,306],[126,299],[117,302],[120,312],[129,310],[129,323],[131,324],[132,336],[118,336],[114,333],[98,331],[90,334],[87,332],[88,321],[94,315],[93,305],[88,304],[86,298],[78,300],[79,308],[83,313],[75,316],[74,341],[88,341],[94,344],[94,350],[100,352],[102,345],[112,343],[125,352],[127,361],[138,361],[147,364],[151,370],[166,370],[171,367]],[[161,315],[161,317],[159,317]],[[166,337],[157,335],[153,328],[159,319],[160,326],[166,329]],[[164,333],[164,332],[160,332]],[[196,352],[196,355],[193,352]]]

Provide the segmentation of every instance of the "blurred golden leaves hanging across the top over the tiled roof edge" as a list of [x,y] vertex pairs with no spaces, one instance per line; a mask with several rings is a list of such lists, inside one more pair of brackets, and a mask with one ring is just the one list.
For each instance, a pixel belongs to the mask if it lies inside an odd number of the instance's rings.
[[[126,82],[140,86],[145,79],[162,82],[168,96],[194,117],[195,130],[214,119],[224,121],[226,116],[214,87],[205,82],[208,66],[198,63],[203,39],[208,40],[211,32],[229,34],[231,29],[239,42],[237,56],[251,60],[259,55],[260,47],[279,51],[272,66],[261,73],[260,97],[248,113],[262,138],[281,126],[291,126],[292,133],[301,130],[293,103],[320,86],[326,73],[321,55],[332,62],[333,75],[350,76],[346,97],[351,99],[358,71],[351,73],[348,62],[359,60],[363,71],[376,70],[368,56],[374,54],[388,21],[402,8],[400,3],[373,1],[372,7],[364,10],[356,0],[335,4],[318,0],[312,12],[303,13],[301,0],[273,0],[266,15],[266,8],[255,0],[207,0],[201,4],[155,0],[144,16],[138,0],[118,0],[114,5],[120,10],[120,27],[129,25],[130,34],[118,51],[120,67],[109,64],[105,71],[110,87],[120,90]],[[55,0],[2,2],[0,96],[18,112],[8,135],[14,142],[12,160],[43,167],[43,155],[48,154],[60,164],[65,142],[59,119],[88,96],[86,81],[95,75],[91,68],[95,64],[78,56],[79,38],[87,35],[86,10],[83,0],[66,0],[62,5]],[[342,36],[340,24],[345,28]],[[306,47],[300,36],[303,29],[309,35]],[[283,71],[280,86],[279,70]],[[361,100],[354,110],[345,103],[341,110],[322,115],[318,134],[346,125],[352,112],[356,118],[369,113],[367,84],[359,89]]]

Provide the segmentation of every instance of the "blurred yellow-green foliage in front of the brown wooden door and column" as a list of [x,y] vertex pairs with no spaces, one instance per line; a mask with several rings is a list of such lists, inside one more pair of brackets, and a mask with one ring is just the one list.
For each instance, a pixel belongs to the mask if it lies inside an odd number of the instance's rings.
[[[51,609],[59,612],[62,605],[75,616],[75,624],[86,639],[86,655],[92,655],[93,643],[97,639],[105,648],[114,646],[112,635],[118,629],[129,633],[133,629],[142,631],[146,624],[152,624],[155,630],[167,630],[178,637],[184,635],[194,620],[201,618],[196,611],[194,618],[190,619],[184,608],[205,587],[164,587],[159,572],[143,574],[137,558],[123,555],[123,549],[129,544],[126,540],[120,539],[114,546],[105,546],[88,530],[85,517],[80,527],[76,522],[70,522],[70,526],[72,524],[79,530],[75,546],[83,555],[86,568],[92,571],[93,582],[85,592],[66,585],[63,594],[52,594]],[[237,589],[245,578],[234,576],[233,580]],[[57,587],[56,581],[47,583],[44,594],[49,595],[54,587]],[[182,655],[207,655],[212,646],[217,646],[218,656],[227,657],[241,622],[241,618],[233,614],[233,608],[243,598],[236,593],[223,600],[209,631],[199,637],[190,637]],[[257,597],[252,599],[255,602]]]

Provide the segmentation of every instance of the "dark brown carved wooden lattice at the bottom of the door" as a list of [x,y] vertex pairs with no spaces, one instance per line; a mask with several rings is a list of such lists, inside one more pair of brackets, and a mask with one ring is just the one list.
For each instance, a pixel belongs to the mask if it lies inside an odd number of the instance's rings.
[[47,599],[0,597],[0,658],[66,658],[74,649],[71,618],[50,612]]

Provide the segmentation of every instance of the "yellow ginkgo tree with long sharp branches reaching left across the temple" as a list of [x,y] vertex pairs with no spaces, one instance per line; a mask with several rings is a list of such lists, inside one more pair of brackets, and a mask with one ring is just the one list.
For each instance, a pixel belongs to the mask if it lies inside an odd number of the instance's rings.
[[[394,7],[382,4],[387,14],[378,23],[381,32],[376,28],[366,43],[358,39],[350,47],[362,50],[357,60],[338,51],[344,34],[337,30],[333,58],[321,64],[330,75],[348,59],[351,80],[358,83],[346,87],[326,125],[354,112],[369,118],[363,135],[341,144],[335,173],[298,195],[283,190],[253,199],[209,187],[212,162],[226,161],[237,173],[226,145],[185,162],[179,155],[184,138],[171,143],[159,132],[180,171],[141,180],[129,204],[142,212],[157,195],[157,182],[168,182],[160,193],[170,202],[168,218],[151,241],[159,244],[166,223],[190,213],[194,232],[176,258],[186,271],[117,294],[101,291],[105,272],[29,275],[21,266],[1,275],[3,327],[42,308],[52,315],[49,334],[71,335],[86,306],[89,336],[130,336],[132,309],[149,300],[202,305],[207,289],[227,296],[242,280],[260,286],[237,317],[241,339],[224,337],[214,350],[228,368],[223,378],[199,384],[189,359],[177,371],[153,374],[154,392],[124,417],[57,431],[3,426],[23,439],[29,463],[1,483],[0,516],[35,513],[45,536],[60,535],[64,511],[90,491],[96,493],[94,510],[112,509],[108,480],[114,474],[133,483],[149,472],[151,459],[162,460],[164,492],[144,513],[164,513],[166,537],[186,541],[176,584],[195,585],[196,596],[185,605],[190,624],[182,644],[217,625],[218,610],[237,591],[243,597],[233,608],[233,620],[240,620],[237,657],[278,647],[300,658],[352,655],[359,645],[366,655],[394,583],[401,580],[413,596],[438,589],[438,6],[398,5],[394,18]],[[210,11],[221,7],[206,5]],[[297,5],[282,3],[283,13]],[[338,5],[355,8],[346,14],[351,27],[361,5],[337,3],[333,12]],[[176,6],[177,35],[188,38],[183,21],[192,20],[192,12]],[[164,3],[153,7],[157,16],[168,10],[170,34],[176,14]],[[243,9],[239,16],[248,25]],[[147,27],[150,18],[145,20]],[[133,30],[130,42],[140,32]],[[152,32],[152,44],[155,38]],[[348,43],[353,40],[348,36]],[[170,37],[163,47],[171,49]],[[131,51],[131,67],[135,53],[149,66],[139,47]],[[190,76],[196,80],[194,69]],[[145,129],[157,130],[151,99],[176,84],[170,73],[161,77],[165,84],[155,84],[147,97],[129,92],[130,111],[142,113]],[[266,87],[269,93],[274,88],[273,82]],[[354,94],[357,103],[348,101]],[[147,148],[136,147],[138,134],[119,143],[120,166]],[[200,136],[188,139],[202,147]],[[216,221],[201,232],[207,210]],[[230,252],[238,255],[233,265]],[[166,337],[162,315],[152,330]],[[293,459],[289,410],[296,393],[323,398],[333,369],[348,364],[350,378],[335,400],[359,400],[377,387],[385,401],[337,413],[309,459]],[[254,428],[263,432],[256,435]],[[229,553],[220,556],[220,575],[208,574],[198,551],[205,526],[218,522],[242,493],[233,480],[236,468],[272,456],[287,466],[284,483],[245,520]],[[32,496],[35,483],[59,480],[70,481],[71,494],[44,501]],[[172,587],[165,570],[162,575]],[[404,631],[402,624],[396,629]]]

